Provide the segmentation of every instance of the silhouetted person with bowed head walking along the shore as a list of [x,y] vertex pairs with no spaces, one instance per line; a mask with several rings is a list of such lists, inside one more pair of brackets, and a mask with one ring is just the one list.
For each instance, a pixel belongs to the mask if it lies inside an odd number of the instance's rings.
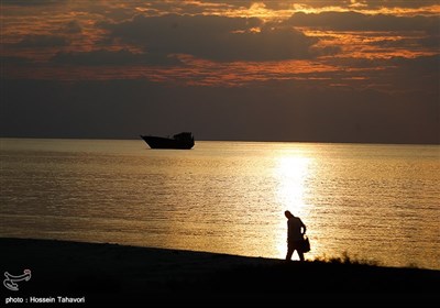
[[304,252],[301,243],[304,234],[306,233],[306,224],[299,217],[295,217],[290,211],[285,211],[284,215],[287,218],[287,254],[286,261],[292,260],[292,255],[296,251],[299,256],[299,261],[304,261]]

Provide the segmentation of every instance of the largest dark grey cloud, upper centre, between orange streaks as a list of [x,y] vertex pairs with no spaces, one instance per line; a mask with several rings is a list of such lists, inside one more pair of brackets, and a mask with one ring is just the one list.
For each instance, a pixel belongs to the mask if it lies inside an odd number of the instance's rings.
[[189,54],[212,61],[312,58],[318,40],[293,28],[264,25],[260,19],[213,15],[138,15],[121,23],[100,23],[108,38],[155,54]]

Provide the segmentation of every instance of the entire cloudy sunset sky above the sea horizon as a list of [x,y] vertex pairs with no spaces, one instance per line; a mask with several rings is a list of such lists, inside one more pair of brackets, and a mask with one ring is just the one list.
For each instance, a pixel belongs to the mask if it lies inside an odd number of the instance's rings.
[[440,144],[438,0],[0,0],[0,136]]

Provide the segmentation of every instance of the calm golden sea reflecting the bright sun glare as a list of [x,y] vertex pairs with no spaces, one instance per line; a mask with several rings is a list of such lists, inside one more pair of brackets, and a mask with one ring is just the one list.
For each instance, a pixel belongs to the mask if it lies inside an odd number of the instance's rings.
[[[440,146],[0,139],[0,235],[440,270]],[[297,255],[294,254],[294,260]]]

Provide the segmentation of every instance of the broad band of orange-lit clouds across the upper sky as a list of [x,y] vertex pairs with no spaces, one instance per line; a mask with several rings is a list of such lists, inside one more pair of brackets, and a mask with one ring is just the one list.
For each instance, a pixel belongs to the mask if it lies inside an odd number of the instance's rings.
[[439,54],[440,6],[410,2],[4,1],[3,78],[366,85],[394,58]]

